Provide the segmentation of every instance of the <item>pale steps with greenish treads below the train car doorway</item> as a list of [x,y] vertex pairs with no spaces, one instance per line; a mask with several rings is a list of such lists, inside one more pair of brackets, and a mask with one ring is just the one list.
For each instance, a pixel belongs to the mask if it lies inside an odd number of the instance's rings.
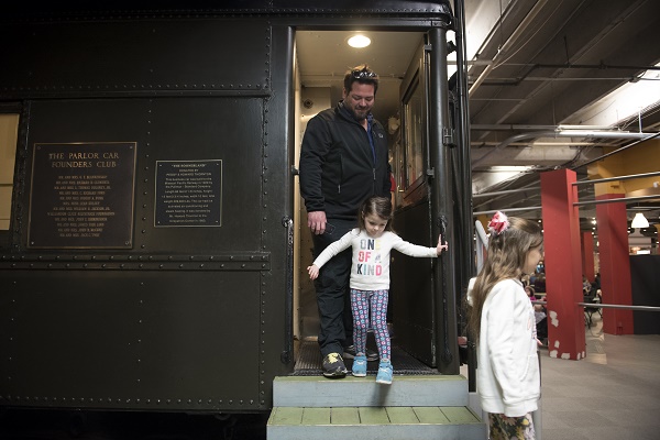
[[266,433],[268,440],[483,440],[486,426],[468,404],[462,375],[395,376],[391,385],[374,375],[276,377]]

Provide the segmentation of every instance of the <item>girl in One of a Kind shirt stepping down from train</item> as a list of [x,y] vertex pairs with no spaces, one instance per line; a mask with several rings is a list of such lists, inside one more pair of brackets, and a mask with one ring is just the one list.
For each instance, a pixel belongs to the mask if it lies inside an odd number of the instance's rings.
[[[440,237],[437,248],[425,248],[404,241],[392,231],[392,201],[386,197],[372,196],[366,199],[358,215],[359,228],[349,231],[330,244],[307,267],[309,277],[316,279],[319,271],[332,256],[352,246],[351,265],[351,310],[353,311],[353,342],[356,356],[353,360],[353,375],[366,376],[366,331],[374,329],[381,365],[376,382],[391,384],[393,367],[391,341],[387,331],[387,300],[389,292],[389,252],[393,249],[410,255],[436,257],[447,243]],[[371,317],[370,317],[371,311]]]

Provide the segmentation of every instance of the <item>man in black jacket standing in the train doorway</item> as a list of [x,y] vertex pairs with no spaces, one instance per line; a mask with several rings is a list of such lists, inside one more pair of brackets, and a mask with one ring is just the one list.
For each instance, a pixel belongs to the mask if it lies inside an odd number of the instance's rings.
[[[360,205],[370,196],[389,197],[387,136],[371,109],[378,76],[366,65],[344,76],[343,100],[307,124],[300,153],[300,193],[314,256],[358,226]],[[351,250],[328,262],[315,280],[323,375],[343,377],[342,355],[354,356],[349,277]],[[371,354],[371,356],[370,356]],[[376,353],[367,353],[376,360]]]

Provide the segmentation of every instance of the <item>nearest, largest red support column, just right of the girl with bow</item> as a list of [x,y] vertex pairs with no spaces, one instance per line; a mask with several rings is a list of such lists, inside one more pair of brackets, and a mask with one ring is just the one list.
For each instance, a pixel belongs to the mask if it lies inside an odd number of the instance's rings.
[[580,360],[585,355],[582,302],[580,217],[573,202],[575,172],[541,173],[548,351],[551,358]]

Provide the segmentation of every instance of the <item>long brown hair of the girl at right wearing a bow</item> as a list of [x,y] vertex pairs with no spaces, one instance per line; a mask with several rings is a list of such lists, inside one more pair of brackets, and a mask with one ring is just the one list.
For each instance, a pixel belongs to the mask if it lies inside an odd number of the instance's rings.
[[474,342],[479,341],[482,309],[493,286],[503,279],[519,279],[529,251],[543,244],[541,228],[536,221],[517,217],[509,217],[508,221],[507,229],[491,233],[484,266],[470,293],[468,334]]

